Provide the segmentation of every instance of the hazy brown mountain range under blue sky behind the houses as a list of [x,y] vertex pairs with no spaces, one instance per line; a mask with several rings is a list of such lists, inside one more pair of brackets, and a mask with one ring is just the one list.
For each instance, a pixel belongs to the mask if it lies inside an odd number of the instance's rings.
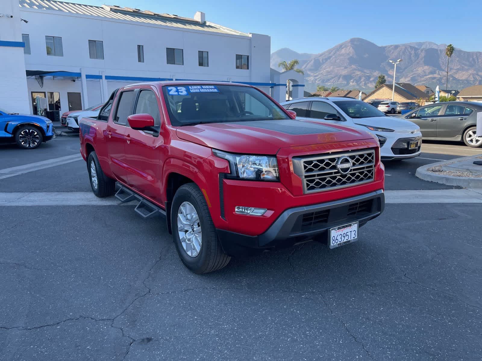
[[[378,46],[352,38],[319,54],[298,53],[282,48],[271,54],[271,67],[285,60],[299,60],[305,72],[305,90],[314,91],[317,85],[342,89],[372,91],[378,75],[387,83],[393,81],[393,64],[388,60],[403,59],[397,65],[397,82],[427,85],[435,90],[445,89],[447,56],[446,44],[430,41]],[[482,84],[482,52],[465,52],[455,48],[449,63],[448,89],[463,89]]]

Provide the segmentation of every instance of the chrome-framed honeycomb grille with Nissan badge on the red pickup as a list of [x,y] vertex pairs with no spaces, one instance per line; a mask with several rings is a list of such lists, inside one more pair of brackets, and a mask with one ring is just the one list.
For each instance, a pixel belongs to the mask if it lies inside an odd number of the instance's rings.
[[[340,158],[341,161],[340,161]],[[348,159],[349,161],[348,161]],[[337,168],[351,162],[351,168]],[[373,181],[375,151],[373,149],[307,157],[294,157],[295,174],[303,179],[303,193],[321,192]]]

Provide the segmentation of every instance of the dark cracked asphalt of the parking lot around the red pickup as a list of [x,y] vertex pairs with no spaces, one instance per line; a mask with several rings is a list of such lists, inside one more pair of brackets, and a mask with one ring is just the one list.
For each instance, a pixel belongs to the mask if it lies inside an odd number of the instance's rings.
[[[422,152],[385,164],[386,189],[407,201],[388,202],[358,242],[310,242],[207,275],[182,265],[164,219],[134,206],[2,206],[0,359],[481,360],[482,205],[410,196],[453,188],[416,168],[482,150]],[[0,146],[0,200],[90,192],[76,155],[76,137]]]

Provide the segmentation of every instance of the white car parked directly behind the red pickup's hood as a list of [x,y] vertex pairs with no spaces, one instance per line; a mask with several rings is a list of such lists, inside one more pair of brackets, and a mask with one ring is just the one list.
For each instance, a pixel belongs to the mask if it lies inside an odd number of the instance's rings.
[[382,160],[420,155],[422,133],[410,120],[386,116],[361,100],[343,97],[309,97],[281,103],[296,112],[296,119],[320,121],[367,131],[378,138]]

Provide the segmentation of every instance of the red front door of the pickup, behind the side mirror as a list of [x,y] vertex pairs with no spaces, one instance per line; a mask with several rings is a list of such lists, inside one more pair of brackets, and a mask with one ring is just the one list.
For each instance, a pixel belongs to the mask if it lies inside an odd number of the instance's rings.
[[164,162],[162,137],[159,136],[161,103],[156,91],[141,89],[137,97],[134,114],[149,114],[154,118],[155,130],[142,131],[127,128],[126,163],[127,181],[137,192],[162,203],[161,170]]

